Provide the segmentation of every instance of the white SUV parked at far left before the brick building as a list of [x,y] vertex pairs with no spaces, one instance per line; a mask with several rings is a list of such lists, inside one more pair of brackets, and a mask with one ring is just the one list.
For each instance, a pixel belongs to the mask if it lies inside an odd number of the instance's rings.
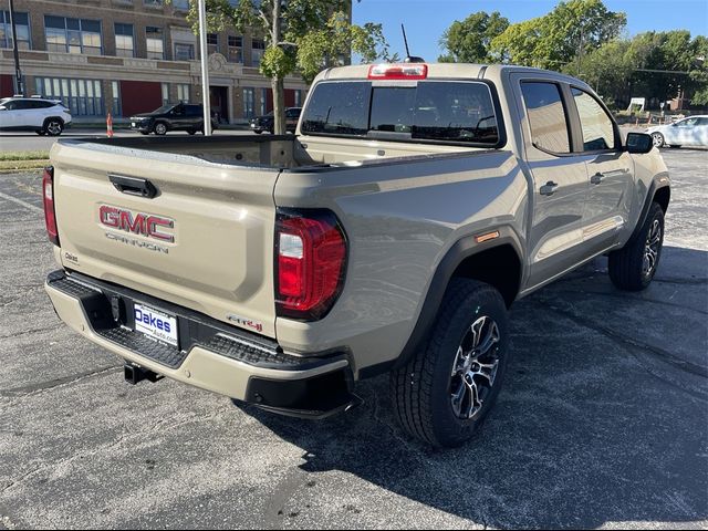
[[0,131],[58,136],[69,124],[71,112],[60,101],[17,96],[0,100]]

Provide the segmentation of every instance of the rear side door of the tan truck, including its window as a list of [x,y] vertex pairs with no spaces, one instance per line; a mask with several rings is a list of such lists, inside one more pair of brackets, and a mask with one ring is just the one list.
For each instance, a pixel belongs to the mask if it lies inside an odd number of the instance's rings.
[[524,146],[533,180],[527,285],[532,288],[583,259],[587,169],[585,157],[572,149],[568,86],[522,74],[512,80],[525,117]]

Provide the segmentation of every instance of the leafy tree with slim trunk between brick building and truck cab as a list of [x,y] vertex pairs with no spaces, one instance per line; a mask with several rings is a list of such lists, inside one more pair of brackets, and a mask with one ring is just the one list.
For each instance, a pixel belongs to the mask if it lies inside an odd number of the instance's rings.
[[[275,134],[285,132],[283,80],[301,73],[312,81],[323,67],[343,64],[351,53],[366,62],[386,59],[388,46],[381,24],[351,24],[345,0],[206,0],[208,31],[233,28],[252,31],[266,41],[260,72],[273,91]],[[189,2],[187,19],[199,31],[197,1]]]

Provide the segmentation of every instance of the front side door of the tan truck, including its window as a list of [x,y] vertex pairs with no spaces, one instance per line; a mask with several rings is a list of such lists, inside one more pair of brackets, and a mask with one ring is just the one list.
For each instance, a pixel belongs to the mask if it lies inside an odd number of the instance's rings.
[[583,214],[583,244],[589,254],[614,244],[629,222],[634,160],[622,149],[620,131],[604,106],[591,93],[571,87],[571,112],[580,131],[574,149],[587,156],[590,189]]

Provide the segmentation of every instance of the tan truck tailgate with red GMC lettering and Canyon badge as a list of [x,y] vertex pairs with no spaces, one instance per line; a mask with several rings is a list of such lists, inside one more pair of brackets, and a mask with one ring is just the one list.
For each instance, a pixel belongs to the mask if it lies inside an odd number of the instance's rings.
[[64,268],[274,337],[278,169],[81,140],[56,143],[51,162]]

